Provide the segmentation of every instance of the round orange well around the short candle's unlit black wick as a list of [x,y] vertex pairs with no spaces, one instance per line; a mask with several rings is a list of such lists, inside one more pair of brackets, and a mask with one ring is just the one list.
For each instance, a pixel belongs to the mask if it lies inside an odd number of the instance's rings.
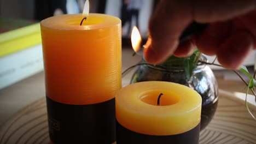
[[153,90],[153,91],[147,91],[142,93],[141,95],[139,95],[139,98],[144,103],[147,103],[150,105],[158,105],[158,99],[159,99],[159,106],[167,106],[167,105],[177,104],[181,99],[181,96],[179,96],[177,93],[172,93],[172,92],[163,93],[159,90],[155,90],[155,91]]

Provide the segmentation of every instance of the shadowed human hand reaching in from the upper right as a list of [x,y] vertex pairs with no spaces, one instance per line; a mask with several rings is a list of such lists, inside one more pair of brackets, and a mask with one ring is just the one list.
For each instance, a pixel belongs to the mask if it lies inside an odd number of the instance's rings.
[[[180,35],[193,21],[210,24],[200,35],[179,44]],[[225,68],[239,68],[256,47],[256,1],[160,1],[149,22],[147,62],[159,64],[171,54],[187,57],[195,45],[206,55],[217,55]]]

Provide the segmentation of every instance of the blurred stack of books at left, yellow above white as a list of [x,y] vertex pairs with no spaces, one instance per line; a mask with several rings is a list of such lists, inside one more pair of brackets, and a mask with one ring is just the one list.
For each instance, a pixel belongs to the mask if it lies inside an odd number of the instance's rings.
[[40,25],[0,18],[0,89],[43,70]]

